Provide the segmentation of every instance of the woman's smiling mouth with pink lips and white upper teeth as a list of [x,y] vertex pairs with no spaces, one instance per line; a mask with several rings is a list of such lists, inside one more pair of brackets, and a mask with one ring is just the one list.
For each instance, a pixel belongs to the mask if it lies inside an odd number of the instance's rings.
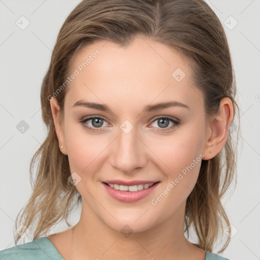
[[137,202],[147,197],[156,189],[159,183],[160,181],[126,186],[102,182],[105,190],[113,199],[124,203]]

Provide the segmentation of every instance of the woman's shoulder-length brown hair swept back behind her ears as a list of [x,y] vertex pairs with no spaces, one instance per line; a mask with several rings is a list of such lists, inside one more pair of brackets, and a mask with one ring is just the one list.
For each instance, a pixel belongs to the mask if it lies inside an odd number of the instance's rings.
[[[51,113],[49,96],[63,84],[77,52],[96,41],[111,41],[125,46],[136,36],[148,37],[178,50],[191,58],[196,87],[204,93],[206,116],[218,112],[220,100],[232,100],[234,118],[239,114],[235,101],[236,84],[231,55],[224,29],[212,9],[202,0],[83,0],[64,21],[52,53],[48,71],[41,87],[43,121],[48,134],[30,162],[30,182],[33,192],[15,228],[36,224],[37,239],[62,220],[66,220],[82,199],[71,176],[68,156],[60,152]],[[57,95],[63,118],[67,88]],[[237,118],[239,120],[239,116]],[[212,251],[229,218],[221,204],[223,194],[236,180],[236,145],[232,134],[238,125],[231,124],[226,143],[216,156],[202,160],[196,186],[186,202],[184,231],[189,237],[191,226],[197,235],[194,245]],[[238,128],[239,130],[239,128]],[[36,178],[32,169],[39,158]],[[236,181],[235,181],[236,182]],[[32,228],[30,229],[32,230]],[[15,244],[25,232],[15,235]],[[222,242],[222,240],[220,241]],[[230,242],[226,236],[222,252]]]

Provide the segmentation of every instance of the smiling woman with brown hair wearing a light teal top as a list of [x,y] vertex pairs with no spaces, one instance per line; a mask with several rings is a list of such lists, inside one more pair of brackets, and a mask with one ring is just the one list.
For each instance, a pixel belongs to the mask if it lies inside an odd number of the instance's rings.
[[[220,199],[235,177],[235,94],[202,0],[82,1],[42,84],[48,135],[15,243],[34,240],[0,259],[226,259],[212,250],[230,241]],[[48,234],[75,200],[79,222]]]

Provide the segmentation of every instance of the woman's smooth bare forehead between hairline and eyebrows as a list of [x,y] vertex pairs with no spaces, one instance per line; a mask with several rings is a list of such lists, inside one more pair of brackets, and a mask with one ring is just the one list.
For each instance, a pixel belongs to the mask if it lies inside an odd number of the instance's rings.
[[[136,38],[127,46],[96,42],[81,49],[72,63],[77,76],[66,94],[67,105],[77,101],[105,103],[120,109],[178,101],[203,102],[191,78],[190,60],[175,49],[150,39]],[[140,108],[138,108],[140,106]]]

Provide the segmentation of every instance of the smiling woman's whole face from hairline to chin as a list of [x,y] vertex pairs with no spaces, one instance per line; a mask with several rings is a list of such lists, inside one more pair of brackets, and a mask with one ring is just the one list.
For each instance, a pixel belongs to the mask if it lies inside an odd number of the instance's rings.
[[[203,93],[192,82],[189,62],[143,38],[126,47],[94,43],[73,61],[61,150],[68,154],[82,210],[117,231],[125,224],[145,231],[184,217],[207,137]],[[158,105],[165,103],[172,105]],[[121,196],[108,181],[158,183],[142,197],[144,191]]]

